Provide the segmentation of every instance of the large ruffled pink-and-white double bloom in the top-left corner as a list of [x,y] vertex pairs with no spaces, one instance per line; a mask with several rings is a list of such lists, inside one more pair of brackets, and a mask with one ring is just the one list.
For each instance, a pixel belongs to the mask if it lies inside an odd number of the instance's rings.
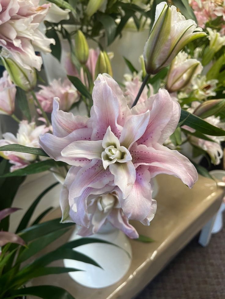
[[38,4],[37,0],[0,3],[0,45],[5,49],[2,56],[13,58],[26,69],[40,70],[42,58],[35,55],[35,51],[51,52],[49,45],[55,43],[38,30],[50,4]]

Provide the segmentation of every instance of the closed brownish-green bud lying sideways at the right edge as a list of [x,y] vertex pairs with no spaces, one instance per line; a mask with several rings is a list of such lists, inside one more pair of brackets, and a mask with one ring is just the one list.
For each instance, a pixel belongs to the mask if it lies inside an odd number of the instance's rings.
[[193,114],[201,118],[206,118],[223,111],[225,111],[225,99],[208,100],[199,105]]

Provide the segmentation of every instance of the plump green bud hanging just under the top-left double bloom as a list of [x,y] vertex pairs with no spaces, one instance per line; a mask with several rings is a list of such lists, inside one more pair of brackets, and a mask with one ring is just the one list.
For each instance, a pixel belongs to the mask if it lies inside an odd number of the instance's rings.
[[24,91],[31,91],[37,84],[35,69],[22,68],[11,58],[2,57],[2,62],[13,83]]

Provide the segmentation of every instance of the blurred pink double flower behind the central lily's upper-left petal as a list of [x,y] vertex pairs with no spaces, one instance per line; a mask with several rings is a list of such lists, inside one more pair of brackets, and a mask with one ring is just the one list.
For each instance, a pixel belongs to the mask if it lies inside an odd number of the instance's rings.
[[63,83],[61,79],[54,79],[49,86],[39,85],[39,87],[41,89],[36,92],[36,97],[45,112],[52,112],[54,97],[60,98],[60,109],[63,111],[68,111],[80,98],[76,87],[67,78]]

